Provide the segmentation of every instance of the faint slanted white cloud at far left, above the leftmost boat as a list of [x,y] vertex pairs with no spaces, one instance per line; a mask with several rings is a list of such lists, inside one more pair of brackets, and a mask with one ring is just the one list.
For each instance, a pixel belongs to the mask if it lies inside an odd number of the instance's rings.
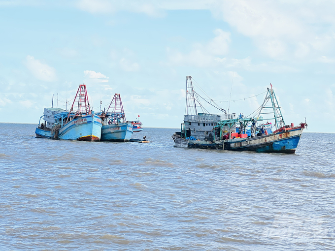
[[46,63],[41,63],[39,60],[34,59],[33,56],[28,55],[24,63],[35,78],[47,82],[57,80],[55,68]]

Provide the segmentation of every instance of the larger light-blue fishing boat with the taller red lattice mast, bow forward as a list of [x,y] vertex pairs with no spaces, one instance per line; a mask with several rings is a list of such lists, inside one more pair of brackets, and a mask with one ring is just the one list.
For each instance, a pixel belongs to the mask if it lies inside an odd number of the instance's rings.
[[91,110],[86,85],[79,85],[70,111],[54,117],[51,136],[55,139],[100,141],[101,119]]

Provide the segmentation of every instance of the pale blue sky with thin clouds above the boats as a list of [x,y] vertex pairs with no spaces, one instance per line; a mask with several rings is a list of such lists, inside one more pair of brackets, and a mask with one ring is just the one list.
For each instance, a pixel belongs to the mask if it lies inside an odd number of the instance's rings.
[[192,76],[244,115],[271,83],[286,124],[335,132],[334,12],[330,0],[0,0],[0,122],[38,124],[53,94],[66,108],[86,84],[97,112],[119,93],[127,120],[179,128]]

